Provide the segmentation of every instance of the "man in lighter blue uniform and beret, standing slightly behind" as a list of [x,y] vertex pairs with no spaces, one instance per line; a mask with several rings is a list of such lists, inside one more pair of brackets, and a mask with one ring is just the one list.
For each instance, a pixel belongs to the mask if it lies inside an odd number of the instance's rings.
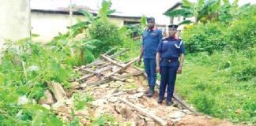
[[156,50],[163,35],[162,31],[155,27],[155,18],[147,18],[147,23],[148,28],[145,29],[142,36],[141,53],[138,62],[141,64],[141,57],[143,56],[149,83],[149,93],[147,95],[152,97],[156,85]]

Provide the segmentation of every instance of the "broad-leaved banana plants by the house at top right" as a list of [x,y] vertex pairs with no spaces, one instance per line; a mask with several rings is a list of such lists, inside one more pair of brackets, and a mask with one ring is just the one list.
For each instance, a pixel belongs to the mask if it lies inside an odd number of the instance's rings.
[[[220,20],[227,23],[238,17],[249,6],[247,4],[239,9],[238,0],[233,3],[229,0],[222,0],[222,2],[223,5],[221,5],[221,0],[198,0],[197,2],[183,0],[181,9],[174,9],[164,14],[168,17],[194,17],[196,24],[198,22],[206,23],[208,20]],[[192,22],[192,20],[183,20],[180,24]]]

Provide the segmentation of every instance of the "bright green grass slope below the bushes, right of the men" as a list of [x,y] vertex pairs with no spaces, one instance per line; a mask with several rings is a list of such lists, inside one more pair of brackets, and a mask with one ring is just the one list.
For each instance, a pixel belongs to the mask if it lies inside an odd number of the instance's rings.
[[[256,124],[256,83],[254,78],[247,81],[236,80],[232,69],[220,69],[213,57],[186,59],[183,74],[178,76],[176,90],[199,112],[232,122]],[[211,60],[212,64],[205,64]],[[235,61],[235,59],[233,59]],[[239,60],[237,58],[236,60]],[[237,61],[239,62],[239,61]],[[236,113],[241,111],[241,113]]]

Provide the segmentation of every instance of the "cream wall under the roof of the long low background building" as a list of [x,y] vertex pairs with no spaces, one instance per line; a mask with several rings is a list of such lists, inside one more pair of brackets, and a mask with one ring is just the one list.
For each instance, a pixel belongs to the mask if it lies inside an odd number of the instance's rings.
[[[77,19],[86,20],[85,16],[73,15],[72,23],[76,24]],[[133,18],[127,17],[126,19],[121,17],[110,17],[112,23],[117,24],[119,27],[123,25],[124,20],[138,21]],[[58,33],[66,33],[67,27],[70,26],[70,15],[63,13],[45,13],[45,12],[33,12],[31,13],[32,34],[40,35],[36,37],[36,42],[48,43]]]

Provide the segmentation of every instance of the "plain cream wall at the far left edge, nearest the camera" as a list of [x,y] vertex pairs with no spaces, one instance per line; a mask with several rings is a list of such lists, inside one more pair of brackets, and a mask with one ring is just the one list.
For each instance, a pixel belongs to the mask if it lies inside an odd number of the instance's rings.
[[30,37],[29,0],[0,0],[0,46],[4,39]]

